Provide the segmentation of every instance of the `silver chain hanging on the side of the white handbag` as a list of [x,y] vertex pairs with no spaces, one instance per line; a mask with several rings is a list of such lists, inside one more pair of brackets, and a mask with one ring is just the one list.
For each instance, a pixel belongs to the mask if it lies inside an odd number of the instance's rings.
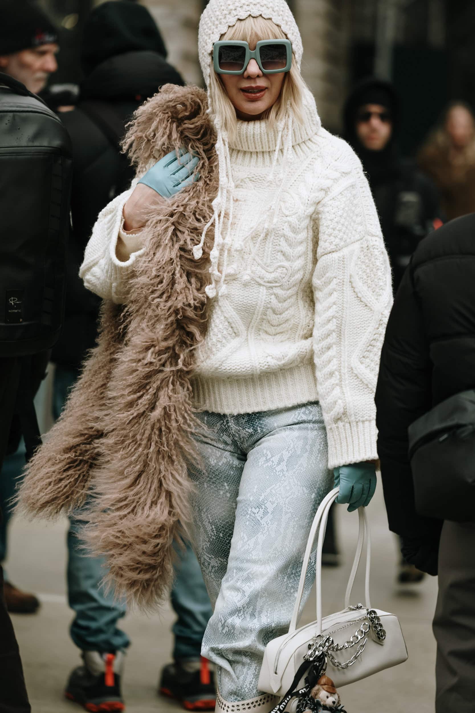
[[[362,604],[358,604],[355,607],[348,608],[350,610],[356,611],[362,610],[364,607],[362,606]],[[345,641],[344,644],[335,644],[331,636],[326,636],[325,638],[323,638],[321,634],[315,635],[313,637],[312,644],[308,645],[309,651],[304,658],[307,661],[313,661],[315,658],[325,653],[326,657],[331,662],[331,664],[335,666],[335,668],[348,669],[350,668],[350,666],[353,666],[353,664],[357,661],[357,658],[360,657],[362,655],[362,652],[365,650],[368,635],[370,633],[375,639],[375,641],[379,644],[383,644],[386,638],[386,632],[382,627],[382,623],[380,617],[377,615],[377,612],[375,612],[374,609],[367,609],[366,613],[368,620],[362,622],[356,632],[352,636],[350,636],[350,639],[348,641]],[[351,649],[354,646],[357,647],[356,651],[353,656],[348,659],[348,661],[338,661],[338,659],[333,655],[333,652],[344,651],[347,649]]]

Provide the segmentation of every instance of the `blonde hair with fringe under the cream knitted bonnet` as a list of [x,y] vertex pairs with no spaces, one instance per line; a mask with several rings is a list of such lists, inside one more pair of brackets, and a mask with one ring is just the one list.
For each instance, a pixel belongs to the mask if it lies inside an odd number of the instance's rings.
[[[250,45],[259,40],[288,39],[283,30],[272,20],[268,20],[261,15],[258,17],[246,17],[238,20],[227,31],[221,35],[221,40],[240,40],[249,42]],[[231,104],[231,100],[226,93],[223,83],[215,73],[213,58],[211,58],[211,76],[209,80],[209,93],[211,96],[212,113],[218,118],[221,127],[226,131],[229,138],[236,133],[237,118],[236,109]],[[283,78],[281,93],[276,103],[266,111],[263,119],[271,127],[278,121],[284,120],[287,109],[290,108],[293,118],[298,123],[303,123],[302,102],[303,93],[306,90],[306,83],[303,81],[298,69],[296,58],[292,53],[292,66]]]

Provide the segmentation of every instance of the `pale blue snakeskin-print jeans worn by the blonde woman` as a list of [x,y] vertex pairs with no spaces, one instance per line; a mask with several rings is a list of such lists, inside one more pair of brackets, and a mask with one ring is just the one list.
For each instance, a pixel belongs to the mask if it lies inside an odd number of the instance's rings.
[[[214,606],[202,655],[221,696],[244,701],[260,694],[267,643],[288,630],[310,525],[332,486],[327,436],[318,403],[199,418],[194,548]],[[314,580],[313,560],[303,602]]]

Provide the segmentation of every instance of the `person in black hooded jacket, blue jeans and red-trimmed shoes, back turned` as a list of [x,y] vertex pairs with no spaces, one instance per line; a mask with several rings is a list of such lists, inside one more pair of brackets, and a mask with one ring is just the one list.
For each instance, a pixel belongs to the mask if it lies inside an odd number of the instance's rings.
[[[68,290],[63,332],[53,350],[56,362],[53,411],[58,418],[80,365],[94,346],[100,299],[78,277],[85,245],[100,210],[128,188],[133,171],[120,153],[120,140],[132,113],[160,86],[183,85],[166,61],[167,50],[149,11],[127,1],[98,6],[85,24],[81,61],[85,78],[73,111],[61,113],[73,144],[73,233],[68,256]],[[80,512],[68,533],[68,600],[75,611],[71,637],[82,651],[83,665],[68,679],[66,697],[88,710],[124,707],[120,689],[123,657],[129,645],[118,622],[125,606],[100,587],[103,562],[85,555],[78,531]],[[190,547],[175,568],[172,605],[174,663],[162,672],[160,690],[187,709],[214,709],[214,683],[202,660],[204,630],[212,614],[202,573]]]

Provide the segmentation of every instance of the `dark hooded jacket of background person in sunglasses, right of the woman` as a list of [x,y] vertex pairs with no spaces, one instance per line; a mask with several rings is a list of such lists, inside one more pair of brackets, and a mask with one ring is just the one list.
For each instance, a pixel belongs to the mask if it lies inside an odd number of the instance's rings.
[[[391,138],[380,151],[365,148],[356,134],[357,111],[365,104],[384,106],[392,118]],[[400,156],[400,103],[390,82],[370,77],[357,83],[345,103],[343,120],[345,138],[370,182],[396,291],[419,240],[441,222],[437,191],[413,162]]]

